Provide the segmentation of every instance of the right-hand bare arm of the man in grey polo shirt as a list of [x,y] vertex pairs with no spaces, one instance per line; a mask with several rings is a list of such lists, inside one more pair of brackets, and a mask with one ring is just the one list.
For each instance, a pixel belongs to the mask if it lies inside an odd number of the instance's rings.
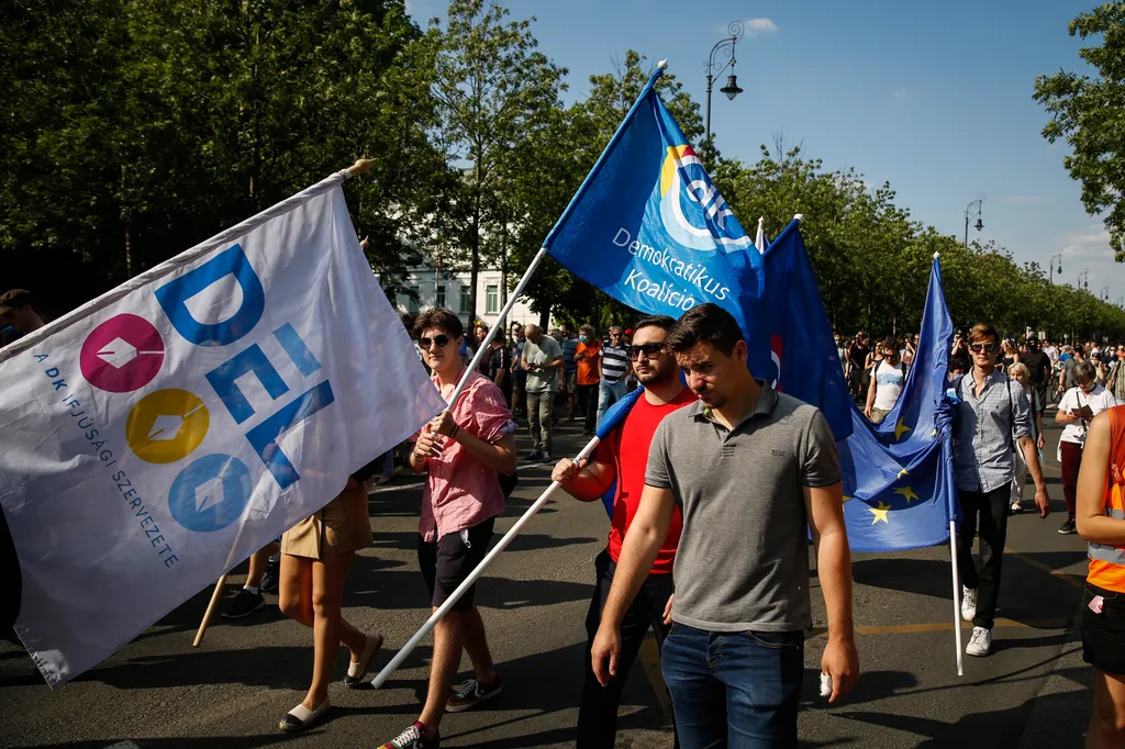
[[860,655],[852,621],[852,550],[844,524],[844,490],[837,481],[826,487],[802,487],[801,491],[828,613],[828,644],[820,670],[831,675],[832,694],[828,702],[836,702],[850,692],[860,678]]

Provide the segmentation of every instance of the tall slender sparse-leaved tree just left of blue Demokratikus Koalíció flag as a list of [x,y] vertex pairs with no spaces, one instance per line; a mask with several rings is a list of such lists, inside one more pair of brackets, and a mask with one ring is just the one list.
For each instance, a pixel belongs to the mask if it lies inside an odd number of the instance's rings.
[[[477,276],[486,226],[507,226],[504,210],[506,166],[513,152],[540,130],[558,108],[566,71],[537,52],[531,20],[508,21],[503,7],[485,0],[452,0],[446,31],[438,37],[432,94],[442,143],[450,156],[467,164],[454,205],[439,236],[449,254],[469,267],[469,323],[477,314]],[[436,19],[432,28],[436,29]],[[489,216],[489,209],[500,209]]]

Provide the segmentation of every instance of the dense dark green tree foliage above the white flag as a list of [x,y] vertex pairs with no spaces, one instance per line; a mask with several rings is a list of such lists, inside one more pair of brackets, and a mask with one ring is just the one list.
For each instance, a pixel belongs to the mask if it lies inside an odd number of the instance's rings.
[[402,0],[18,0],[2,20],[21,286],[74,306],[366,154],[348,191],[372,267],[397,290],[421,262],[402,219],[449,168]]

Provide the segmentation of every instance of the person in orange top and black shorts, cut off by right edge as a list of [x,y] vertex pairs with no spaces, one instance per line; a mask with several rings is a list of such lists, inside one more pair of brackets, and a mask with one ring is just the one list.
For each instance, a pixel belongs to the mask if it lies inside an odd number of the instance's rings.
[[1125,406],[1090,423],[1078,476],[1076,521],[1089,542],[1082,593],[1082,658],[1094,666],[1087,749],[1125,747]]

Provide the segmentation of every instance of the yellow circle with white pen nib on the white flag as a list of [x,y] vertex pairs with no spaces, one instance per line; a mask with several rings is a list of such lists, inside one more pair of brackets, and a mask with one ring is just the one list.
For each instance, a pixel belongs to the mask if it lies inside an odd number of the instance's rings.
[[207,406],[196,394],[156,390],[133,406],[125,422],[125,439],[141,460],[172,463],[199,446],[209,424]]

